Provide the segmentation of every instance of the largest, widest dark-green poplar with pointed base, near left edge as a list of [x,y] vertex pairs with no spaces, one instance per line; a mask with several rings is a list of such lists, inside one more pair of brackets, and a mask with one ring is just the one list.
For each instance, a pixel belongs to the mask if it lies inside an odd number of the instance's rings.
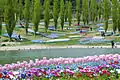
[[6,0],[5,9],[4,9],[4,21],[6,24],[6,30],[9,35],[10,41],[12,40],[11,36],[16,25],[16,19],[15,19],[16,10],[13,3],[14,0]]

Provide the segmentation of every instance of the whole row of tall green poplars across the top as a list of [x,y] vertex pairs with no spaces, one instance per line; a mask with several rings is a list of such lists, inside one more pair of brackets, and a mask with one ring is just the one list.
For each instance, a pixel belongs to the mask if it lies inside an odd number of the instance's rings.
[[[71,26],[73,14],[76,16],[78,25],[82,20],[84,24],[90,21],[104,19],[105,31],[108,28],[110,16],[113,21],[113,31],[120,32],[120,1],[119,0],[76,0],[76,9],[73,9],[71,1],[54,0],[51,9],[50,0],[45,0],[42,5],[40,0],[0,0],[0,34],[2,33],[2,22],[6,24],[7,33],[11,39],[16,22],[25,20],[25,30],[28,33],[29,22],[34,23],[34,32],[38,31],[41,15],[44,16],[45,31],[49,27],[50,13],[53,15],[54,26],[57,30],[58,18],[60,18],[61,29],[64,29],[64,22],[68,20]],[[75,12],[75,13],[74,13]]]

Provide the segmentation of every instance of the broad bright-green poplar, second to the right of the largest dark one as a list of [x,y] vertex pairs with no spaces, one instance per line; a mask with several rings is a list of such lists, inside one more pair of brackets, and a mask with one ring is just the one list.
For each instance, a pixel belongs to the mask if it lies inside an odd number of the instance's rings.
[[34,12],[33,13],[34,13],[33,14],[34,32],[36,33],[38,31],[38,25],[40,22],[40,15],[41,15],[41,3],[39,0],[35,0],[35,2],[34,2]]

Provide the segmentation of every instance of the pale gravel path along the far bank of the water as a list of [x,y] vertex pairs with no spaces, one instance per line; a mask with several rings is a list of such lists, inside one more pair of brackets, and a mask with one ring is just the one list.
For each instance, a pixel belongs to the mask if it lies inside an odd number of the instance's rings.
[[[32,49],[52,49],[52,48],[111,48],[111,46],[83,46],[83,45],[66,45],[66,46],[21,45],[21,46],[4,46],[4,47],[0,47],[0,51],[9,51],[9,50],[32,50]],[[116,48],[120,48],[120,45],[118,45]]]

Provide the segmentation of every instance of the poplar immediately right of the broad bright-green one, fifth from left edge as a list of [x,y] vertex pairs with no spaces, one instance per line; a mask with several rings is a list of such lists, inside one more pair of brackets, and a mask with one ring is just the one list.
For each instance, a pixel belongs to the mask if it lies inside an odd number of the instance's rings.
[[45,22],[45,31],[47,32],[50,19],[50,1],[45,0],[44,2],[44,22]]

